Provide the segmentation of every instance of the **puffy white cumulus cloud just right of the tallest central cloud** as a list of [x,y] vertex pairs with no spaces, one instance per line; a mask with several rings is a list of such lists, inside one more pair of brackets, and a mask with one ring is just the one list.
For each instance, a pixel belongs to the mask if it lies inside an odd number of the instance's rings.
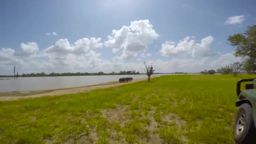
[[185,37],[179,43],[173,41],[166,41],[162,44],[160,53],[166,57],[176,56],[192,56],[192,57],[206,57],[213,56],[216,52],[211,52],[211,44],[214,37],[209,35],[201,40],[201,43],[195,42],[195,37]]

